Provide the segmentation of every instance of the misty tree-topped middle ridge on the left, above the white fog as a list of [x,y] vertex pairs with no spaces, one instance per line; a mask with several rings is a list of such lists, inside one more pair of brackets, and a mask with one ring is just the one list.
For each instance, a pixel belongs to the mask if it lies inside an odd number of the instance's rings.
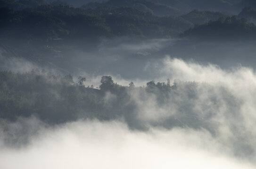
[[[56,124],[82,119],[114,120],[136,113],[136,102],[130,92],[156,97],[159,105],[166,104],[175,85],[151,81],[146,87],[121,86],[112,77],[101,78],[99,89],[85,87],[85,77],[73,81],[71,75],[53,75],[44,70],[27,73],[0,72],[0,119],[15,121],[34,115],[45,123]],[[88,82],[89,83],[89,82]],[[97,87],[98,88],[98,87]],[[143,94],[144,93],[144,94]],[[134,115],[134,118],[136,115]]]

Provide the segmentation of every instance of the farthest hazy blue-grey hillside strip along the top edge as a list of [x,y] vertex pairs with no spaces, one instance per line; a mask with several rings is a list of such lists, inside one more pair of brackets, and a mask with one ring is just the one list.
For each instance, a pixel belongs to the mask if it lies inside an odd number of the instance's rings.
[[0,0],[1,7],[24,9],[38,5],[70,5],[74,7],[97,8],[107,6],[132,7],[156,15],[180,15],[182,12],[215,10],[233,12],[244,7],[254,7],[254,0]]

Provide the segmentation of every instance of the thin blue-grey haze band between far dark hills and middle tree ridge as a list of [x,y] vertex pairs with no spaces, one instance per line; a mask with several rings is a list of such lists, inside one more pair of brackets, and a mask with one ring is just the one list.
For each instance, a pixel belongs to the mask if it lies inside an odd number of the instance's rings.
[[166,55],[202,65],[212,63],[222,69],[239,65],[255,69],[256,49],[251,40],[136,40],[122,37],[101,39],[93,48],[88,47],[88,43],[82,41],[80,46],[75,46],[64,39],[57,44],[42,44],[51,49],[1,45],[0,69],[25,72],[39,67],[74,76],[112,75],[127,81],[147,81],[160,76],[157,70],[163,66],[161,61]]

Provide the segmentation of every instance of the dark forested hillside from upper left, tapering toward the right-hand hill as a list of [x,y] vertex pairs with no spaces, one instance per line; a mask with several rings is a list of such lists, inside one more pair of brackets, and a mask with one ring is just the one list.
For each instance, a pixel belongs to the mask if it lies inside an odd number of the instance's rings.
[[0,37],[49,40],[137,36],[167,38],[192,23],[173,16],[159,17],[135,8],[82,9],[41,5],[13,10],[0,8]]

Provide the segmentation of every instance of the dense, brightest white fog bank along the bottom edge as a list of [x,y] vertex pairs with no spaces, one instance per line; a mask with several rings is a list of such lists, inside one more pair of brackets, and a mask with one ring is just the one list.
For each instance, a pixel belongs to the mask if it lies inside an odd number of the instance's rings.
[[[15,162],[14,162],[15,161]],[[40,131],[31,144],[3,148],[3,169],[253,169],[229,156],[206,131],[130,131],[124,123],[79,121]]]

